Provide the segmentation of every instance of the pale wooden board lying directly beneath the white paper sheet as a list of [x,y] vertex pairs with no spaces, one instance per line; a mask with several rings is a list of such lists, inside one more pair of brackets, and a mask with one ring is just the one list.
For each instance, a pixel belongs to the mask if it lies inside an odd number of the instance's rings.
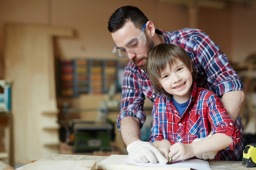
[[125,163],[128,155],[111,155],[98,164],[98,170],[191,170],[181,167],[143,167]]

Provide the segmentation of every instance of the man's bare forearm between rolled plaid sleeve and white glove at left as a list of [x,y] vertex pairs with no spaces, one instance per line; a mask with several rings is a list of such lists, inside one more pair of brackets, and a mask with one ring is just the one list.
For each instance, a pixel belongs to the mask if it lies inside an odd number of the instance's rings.
[[132,141],[141,140],[141,131],[139,128],[139,119],[128,116],[121,120],[121,136],[126,146]]

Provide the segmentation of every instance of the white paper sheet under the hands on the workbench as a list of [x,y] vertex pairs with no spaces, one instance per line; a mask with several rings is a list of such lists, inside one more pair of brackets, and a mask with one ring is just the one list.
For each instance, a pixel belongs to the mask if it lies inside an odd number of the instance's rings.
[[130,163],[137,166],[157,166],[157,167],[178,167],[178,168],[192,168],[195,170],[211,170],[211,167],[209,165],[208,161],[201,160],[201,159],[192,159],[189,161],[179,162],[179,163],[173,163],[173,164],[161,164],[161,163],[132,163],[129,159],[129,156],[127,157],[126,163]]

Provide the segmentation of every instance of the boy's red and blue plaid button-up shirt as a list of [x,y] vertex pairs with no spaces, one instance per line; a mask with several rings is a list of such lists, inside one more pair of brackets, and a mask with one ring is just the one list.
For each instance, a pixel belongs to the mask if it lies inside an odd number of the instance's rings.
[[222,107],[219,98],[205,88],[193,84],[189,105],[180,117],[171,97],[160,96],[152,110],[153,127],[150,142],[167,139],[171,144],[190,144],[196,138],[207,137],[209,132],[225,133],[233,143],[227,148],[233,150],[240,141],[240,132]]

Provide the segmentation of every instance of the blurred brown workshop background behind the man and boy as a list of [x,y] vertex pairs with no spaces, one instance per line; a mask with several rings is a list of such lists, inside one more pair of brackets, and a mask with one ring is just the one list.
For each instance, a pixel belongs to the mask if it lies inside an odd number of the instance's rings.
[[[11,110],[0,114],[0,159],[14,165],[53,153],[126,152],[115,121],[128,60],[112,54],[107,29],[124,5],[139,7],[157,29],[209,34],[245,83],[241,116],[255,135],[255,0],[0,0],[0,92],[11,84]],[[146,100],[143,137],[152,105]]]

